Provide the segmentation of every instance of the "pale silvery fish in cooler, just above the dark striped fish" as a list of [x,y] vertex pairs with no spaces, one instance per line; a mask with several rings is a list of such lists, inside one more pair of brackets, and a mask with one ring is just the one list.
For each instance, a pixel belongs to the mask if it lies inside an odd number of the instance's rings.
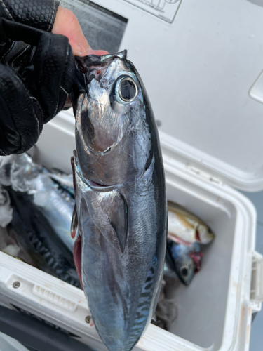
[[70,180],[72,177],[62,173],[48,172],[27,154],[7,157],[0,164],[0,184],[32,195],[32,201],[46,217],[53,232],[73,253],[70,226],[75,201]]

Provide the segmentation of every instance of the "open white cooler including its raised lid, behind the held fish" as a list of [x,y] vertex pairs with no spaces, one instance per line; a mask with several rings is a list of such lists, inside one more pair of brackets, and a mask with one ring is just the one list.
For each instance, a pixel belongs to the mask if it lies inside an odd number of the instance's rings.
[[[263,300],[263,258],[255,251],[255,208],[235,188],[263,189],[260,4],[81,0],[72,5],[93,48],[128,49],[159,125],[168,200],[215,232],[191,285],[170,292],[177,318],[169,331],[150,324],[134,350],[249,349],[252,313]],[[111,43],[105,33],[113,33]],[[44,126],[38,147],[46,167],[71,172],[71,110]],[[96,351],[107,350],[83,291],[5,253],[0,253],[0,301]]]

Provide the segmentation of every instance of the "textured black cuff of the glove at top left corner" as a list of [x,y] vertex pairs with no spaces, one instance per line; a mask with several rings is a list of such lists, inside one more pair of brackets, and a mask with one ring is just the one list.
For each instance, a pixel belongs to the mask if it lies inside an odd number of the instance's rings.
[[58,0],[0,0],[0,17],[51,32]]

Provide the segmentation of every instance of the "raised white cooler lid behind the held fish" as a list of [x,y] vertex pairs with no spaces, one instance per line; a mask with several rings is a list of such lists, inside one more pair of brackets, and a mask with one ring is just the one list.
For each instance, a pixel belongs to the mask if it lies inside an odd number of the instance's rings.
[[263,189],[262,1],[74,4],[93,48],[128,50],[164,150],[238,189]]

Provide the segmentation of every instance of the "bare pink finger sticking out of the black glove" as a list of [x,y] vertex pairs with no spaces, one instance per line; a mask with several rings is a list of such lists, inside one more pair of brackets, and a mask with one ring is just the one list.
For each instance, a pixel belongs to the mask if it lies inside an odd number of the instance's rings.
[[90,46],[83,35],[79,21],[76,19],[76,16],[72,11],[58,6],[58,12],[55,17],[52,32],[54,34],[62,34],[68,37],[74,55],[88,55]]

